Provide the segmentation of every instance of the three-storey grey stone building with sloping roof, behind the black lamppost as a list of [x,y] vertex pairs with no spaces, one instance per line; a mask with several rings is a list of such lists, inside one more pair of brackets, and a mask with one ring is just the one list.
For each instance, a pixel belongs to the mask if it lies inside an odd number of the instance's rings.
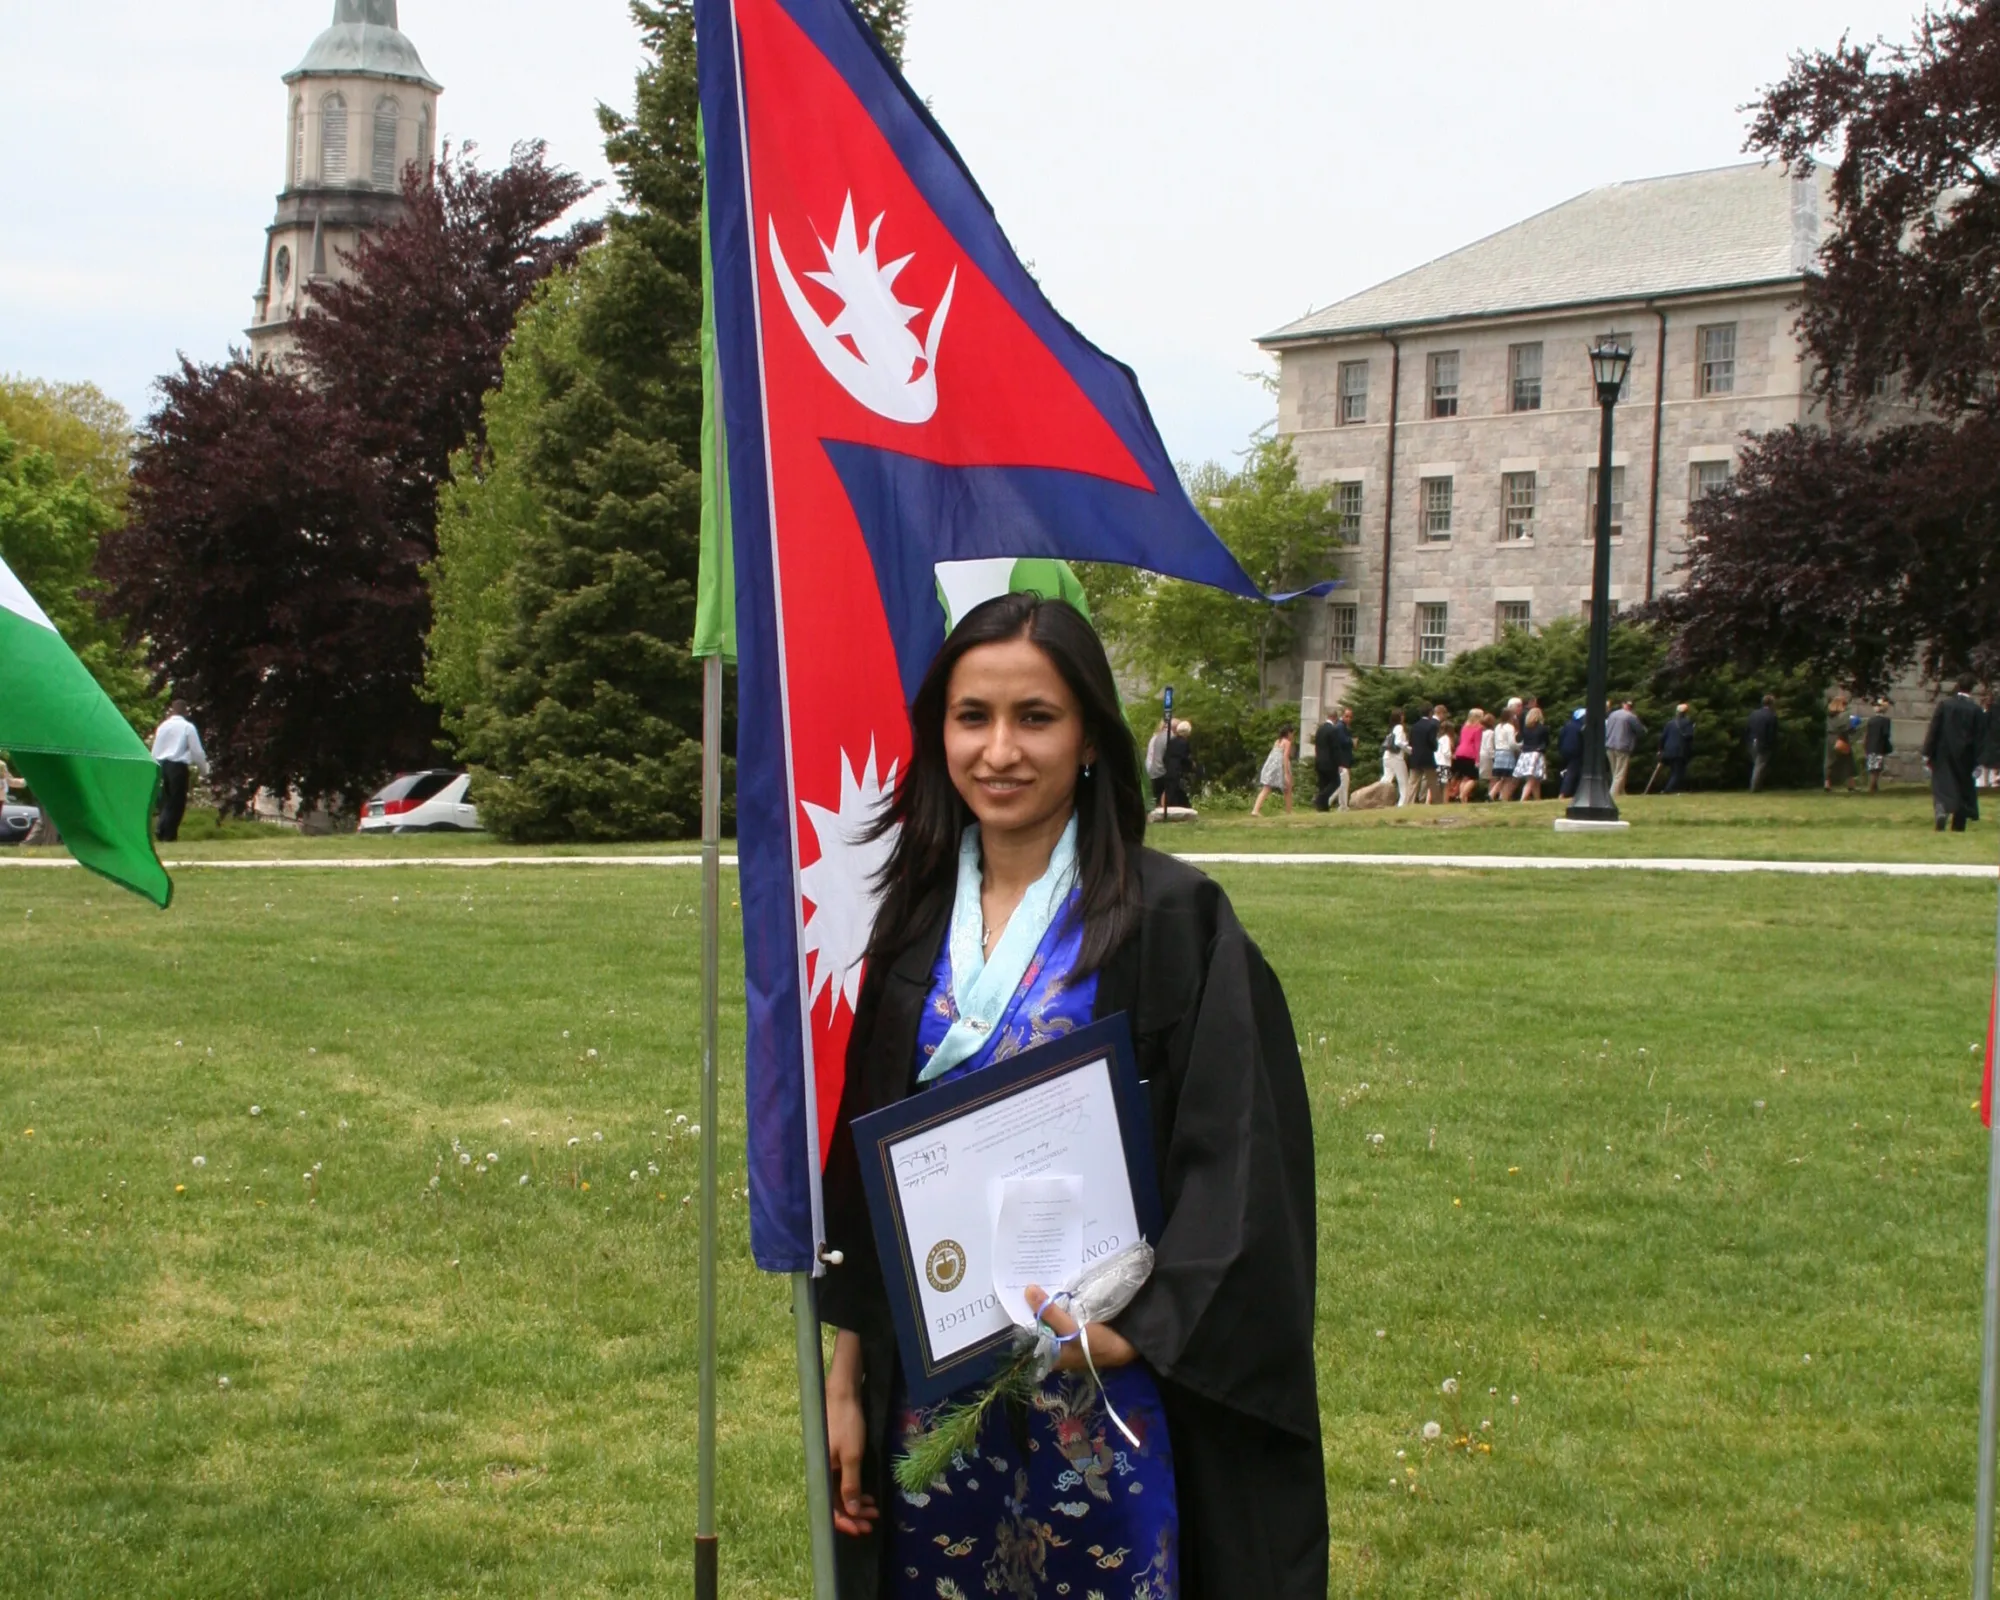
[[1728,166],[1610,184],[1258,340],[1300,476],[1336,484],[1342,576],[1304,632],[1314,726],[1354,664],[1438,662],[1588,612],[1598,404],[1616,408],[1612,606],[1676,582],[1688,504],[1744,432],[1814,412],[1794,306],[1824,174]]

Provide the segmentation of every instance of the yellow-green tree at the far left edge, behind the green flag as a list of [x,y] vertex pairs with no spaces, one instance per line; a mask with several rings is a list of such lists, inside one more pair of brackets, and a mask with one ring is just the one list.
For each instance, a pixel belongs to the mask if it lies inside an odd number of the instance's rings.
[[26,448],[0,424],[0,560],[48,612],[98,688],[150,736],[160,696],[126,650],[122,630],[98,612],[100,586],[92,576],[98,540],[118,526],[122,512],[112,492],[92,482],[92,450],[80,456],[84,468],[64,472],[54,454]]

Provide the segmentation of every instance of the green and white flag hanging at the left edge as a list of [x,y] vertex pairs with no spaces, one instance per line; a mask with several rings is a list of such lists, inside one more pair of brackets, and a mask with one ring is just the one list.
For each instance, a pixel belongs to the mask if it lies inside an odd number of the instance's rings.
[[70,854],[164,908],[174,880],[150,826],[160,766],[6,562],[0,684],[0,750],[34,786]]

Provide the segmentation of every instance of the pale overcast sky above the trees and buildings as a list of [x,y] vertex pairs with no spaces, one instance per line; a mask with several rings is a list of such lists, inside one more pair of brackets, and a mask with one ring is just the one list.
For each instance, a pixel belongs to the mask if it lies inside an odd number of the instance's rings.
[[[910,0],[908,74],[1050,298],[1130,362],[1168,448],[1272,412],[1252,340],[1620,178],[1742,160],[1800,48],[1912,0]],[[286,90],[332,0],[0,0],[0,372],[144,414],[242,340]],[[440,128],[606,176],[622,0],[402,0]],[[600,202],[602,204],[602,202]]]

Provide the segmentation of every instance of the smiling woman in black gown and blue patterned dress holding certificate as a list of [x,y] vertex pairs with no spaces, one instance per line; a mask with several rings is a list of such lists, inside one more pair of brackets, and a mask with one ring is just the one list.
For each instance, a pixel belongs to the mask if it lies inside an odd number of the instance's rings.
[[[876,824],[894,844],[826,1172],[840,1592],[1322,1600],[1312,1128],[1284,992],[1222,890],[1142,848],[1110,664],[1060,600],[972,610],[916,692],[912,734]],[[1020,972],[1002,1000],[980,990],[988,964]],[[904,1494],[892,1460],[924,1418],[904,1398],[852,1122],[1116,1012],[1152,1084],[1166,1226],[1146,1286],[1088,1328],[1104,1396],[1070,1344],[1030,1406],[988,1416],[976,1456]]]

